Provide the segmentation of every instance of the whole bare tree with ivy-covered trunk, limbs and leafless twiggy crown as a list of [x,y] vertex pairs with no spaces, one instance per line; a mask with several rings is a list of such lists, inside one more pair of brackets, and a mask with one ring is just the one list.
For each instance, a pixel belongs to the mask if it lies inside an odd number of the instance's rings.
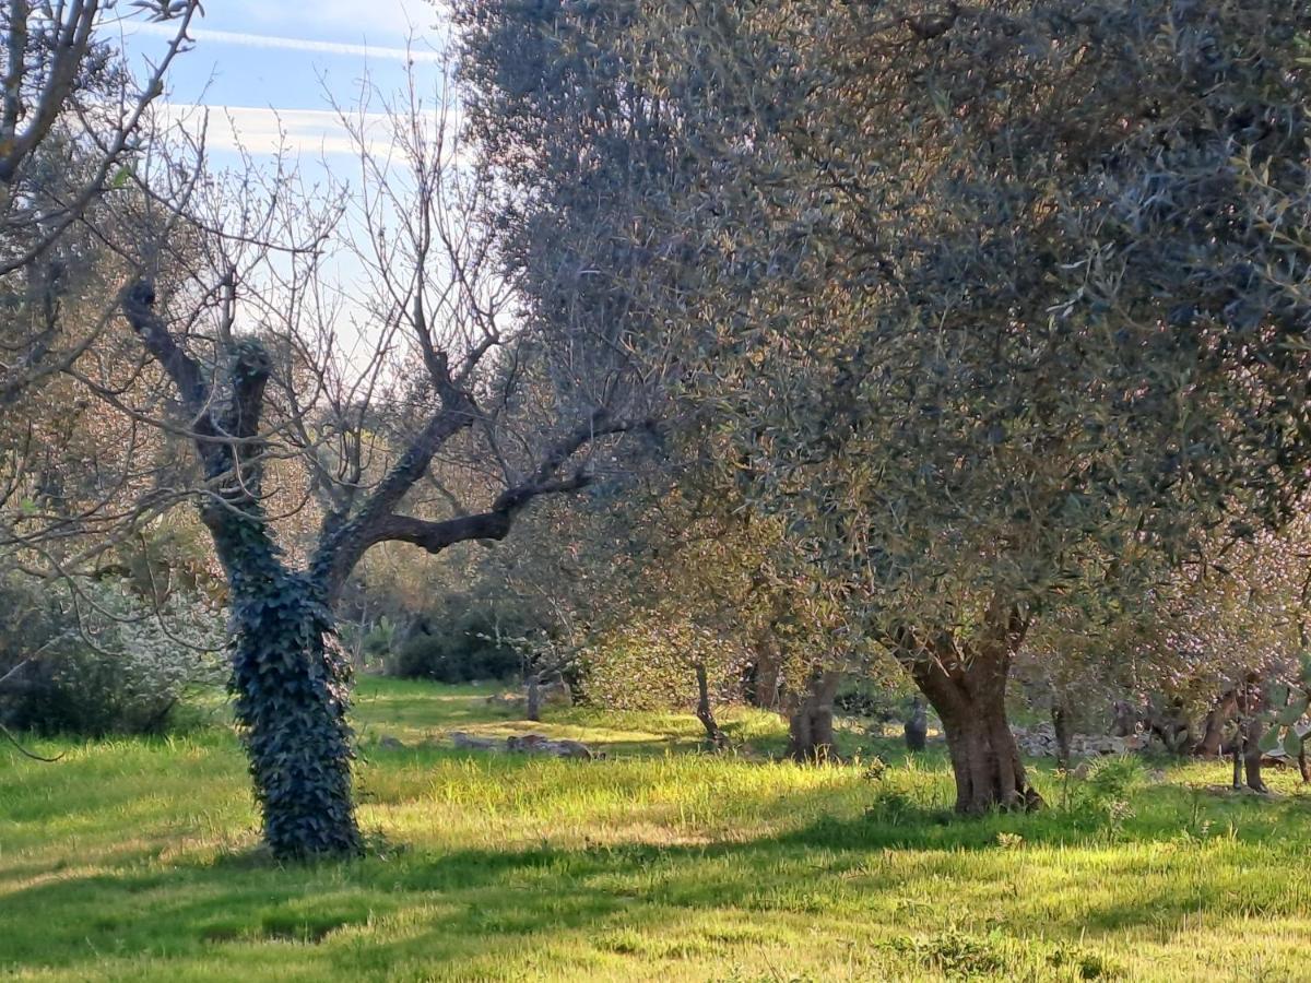
[[[303,215],[286,216],[302,245],[270,253],[262,284],[250,273],[243,283],[233,237],[220,236],[205,288],[161,303],[142,279],[122,295],[170,384],[160,423],[189,435],[203,472],[193,492],[231,587],[236,712],[279,857],[359,848],[332,606],[361,557],[384,541],[439,553],[499,540],[536,498],[591,484],[598,444],[652,418],[650,391],[589,360],[589,338],[557,347],[515,317],[481,220],[489,189],[463,168],[448,102],[418,93],[412,84],[388,106],[385,155],[371,149],[375,117],[343,115],[361,180],[342,241],[372,288],[347,304],[372,318],[355,328],[353,366],[333,345],[342,308],[323,282],[329,244],[305,235],[320,224]],[[269,308],[264,337],[239,332],[233,290],[248,309]],[[223,303],[206,320],[215,291]],[[279,364],[281,353],[292,357]],[[291,464],[299,484],[278,477]],[[303,549],[279,543],[307,503],[317,535]]]

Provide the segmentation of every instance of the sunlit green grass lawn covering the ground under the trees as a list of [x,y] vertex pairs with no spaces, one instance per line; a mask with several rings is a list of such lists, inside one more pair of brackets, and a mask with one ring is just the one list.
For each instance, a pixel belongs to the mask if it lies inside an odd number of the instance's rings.
[[[552,712],[606,760],[456,754],[472,687],[366,679],[358,861],[258,851],[225,726],[0,751],[0,976],[159,980],[1311,979],[1311,794],[1171,767],[1125,807],[944,815],[941,754],[699,754],[691,716]],[[726,714],[768,751],[780,723]],[[382,748],[383,737],[405,748]],[[1083,792],[1070,793],[1083,802]],[[1112,815],[1112,811],[1116,815]]]

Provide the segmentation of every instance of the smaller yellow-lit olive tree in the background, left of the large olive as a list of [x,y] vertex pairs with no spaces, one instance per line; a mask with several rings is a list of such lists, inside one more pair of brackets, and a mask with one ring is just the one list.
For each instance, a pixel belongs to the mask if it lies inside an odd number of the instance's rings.
[[621,502],[611,482],[539,514],[484,575],[555,612],[589,700],[692,708],[717,747],[716,706],[751,703],[788,718],[793,759],[827,760],[838,683],[864,668],[859,632],[779,519],[746,507],[709,463],[675,465],[671,443],[658,461],[629,461]]

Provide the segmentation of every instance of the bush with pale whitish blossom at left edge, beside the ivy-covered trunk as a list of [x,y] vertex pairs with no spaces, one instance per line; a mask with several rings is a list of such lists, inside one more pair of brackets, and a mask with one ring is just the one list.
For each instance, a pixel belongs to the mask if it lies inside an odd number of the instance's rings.
[[[218,684],[223,619],[174,594],[157,611],[121,582],[41,590],[10,578],[0,603],[0,721],[13,729],[102,735],[165,730],[194,684]],[[25,665],[24,665],[25,663]]]

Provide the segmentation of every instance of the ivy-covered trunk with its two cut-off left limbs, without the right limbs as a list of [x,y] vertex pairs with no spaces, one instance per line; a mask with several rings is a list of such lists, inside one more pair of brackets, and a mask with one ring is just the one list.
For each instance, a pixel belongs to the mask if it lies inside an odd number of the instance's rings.
[[260,415],[267,353],[254,339],[236,341],[228,395],[216,400],[153,303],[148,282],[123,296],[125,313],[194,421],[206,477],[201,519],[231,588],[231,688],[265,841],[278,860],[358,853],[346,722],[350,667],[336,644],[330,581],[324,570],[286,568],[264,510]]

